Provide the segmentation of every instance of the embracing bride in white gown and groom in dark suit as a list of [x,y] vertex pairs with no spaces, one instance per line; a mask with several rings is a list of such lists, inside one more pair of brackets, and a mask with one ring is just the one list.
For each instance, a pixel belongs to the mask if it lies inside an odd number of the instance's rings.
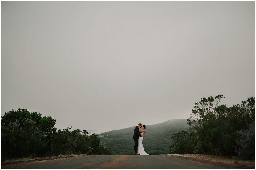
[[146,126],[142,125],[141,123],[139,123],[138,126],[134,128],[132,139],[134,140],[135,155],[149,155],[144,151],[144,148],[142,145],[143,135],[145,135],[145,133],[146,133]]

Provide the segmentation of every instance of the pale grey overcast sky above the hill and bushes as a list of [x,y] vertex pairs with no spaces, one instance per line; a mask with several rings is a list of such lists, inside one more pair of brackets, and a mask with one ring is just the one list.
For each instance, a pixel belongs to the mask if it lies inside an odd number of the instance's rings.
[[1,114],[122,129],[219,94],[255,96],[255,1],[1,1]]

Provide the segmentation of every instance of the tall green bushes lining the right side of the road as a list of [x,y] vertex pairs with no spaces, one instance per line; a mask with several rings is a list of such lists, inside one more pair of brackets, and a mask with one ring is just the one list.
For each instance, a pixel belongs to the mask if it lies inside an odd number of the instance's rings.
[[190,128],[172,134],[171,154],[229,155],[255,159],[255,97],[227,107],[222,95],[196,102]]

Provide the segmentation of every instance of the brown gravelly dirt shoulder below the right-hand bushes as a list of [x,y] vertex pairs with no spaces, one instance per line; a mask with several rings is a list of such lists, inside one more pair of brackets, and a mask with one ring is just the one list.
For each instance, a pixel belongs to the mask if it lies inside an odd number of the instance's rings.
[[187,154],[187,155],[179,155],[179,154],[168,154],[168,156],[176,156],[190,160],[196,160],[200,162],[207,162],[213,164],[228,164],[233,167],[242,168],[242,169],[255,169],[255,160],[237,160],[232,159],[225,156],[213,156],[213,155],[197,155],[197,154]]

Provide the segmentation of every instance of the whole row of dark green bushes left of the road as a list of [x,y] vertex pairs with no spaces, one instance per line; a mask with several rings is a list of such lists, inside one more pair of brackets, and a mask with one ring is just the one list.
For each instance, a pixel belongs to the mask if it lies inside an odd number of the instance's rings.
[[56,120],[18,109],[1,116],[1,160],[59,154],[111,154],[96,134],[70,127],[54,128]]

